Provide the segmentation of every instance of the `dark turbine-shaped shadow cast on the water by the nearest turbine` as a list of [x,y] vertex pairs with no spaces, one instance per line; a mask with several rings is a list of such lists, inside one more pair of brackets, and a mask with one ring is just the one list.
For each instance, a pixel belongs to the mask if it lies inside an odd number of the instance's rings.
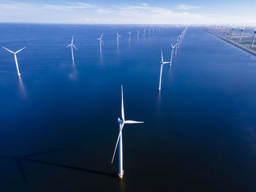
[[7,158],[7,159],[11,159],[13,161],[16,161],[16,163],[18,164],[18,169],[20,171],[20,174],[23,177],[23,181],[27,186],[29,185],[29,183],[28,183],[28,180],[26,179],[26,174],[25,174],[23,164],[21,163],[21,161],[29,161],[29,162],[34,162],[37,164],[45,164],[45,165],[49,165],[49,166],[57,166],[57,167],[65,168],[65,169],[72,169],[72,170],[76,170],[76,171],[80,171],[80,172],[88,172],[91,174],[100,174],[103,176],[108,176],[108,177],[113,177],[113,178],[118,177],[116,172],[101,172],[101,171],[97,171],[94,169],[86,169],[86,168],[78,167],[78,166],[69,166],[69,165],[65,165],[65,164],[57,164],[57,163],[51,163],[48,161],[39,161],[39,160],[30,159],[30,157],[34,157],[37,155],[43,155],[43,154],[51,153],[51,152],[55,152],[55,151],[59,151],[59,150],[48,150],[48,151],[43,151],[43,152],[39,152],[39,153],[31,153],[29,155],[23,155],[21,157],[0,155],[0,158]]

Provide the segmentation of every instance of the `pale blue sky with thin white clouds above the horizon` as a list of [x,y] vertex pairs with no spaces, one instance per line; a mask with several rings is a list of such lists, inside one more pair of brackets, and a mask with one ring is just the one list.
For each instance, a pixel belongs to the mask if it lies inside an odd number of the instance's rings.
[[1,23],[256,23],[256,0],[0,0]]

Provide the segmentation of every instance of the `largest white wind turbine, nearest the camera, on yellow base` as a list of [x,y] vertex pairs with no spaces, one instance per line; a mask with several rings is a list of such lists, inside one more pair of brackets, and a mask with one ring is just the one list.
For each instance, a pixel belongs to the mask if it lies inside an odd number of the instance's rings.
[[[123,97],[123,85],[121,85],[121,119],[118,118],[118,123],[119,123],[119,134],[117,137],[117,141],[116,141],[116,147],[119,143],[119,151],[118,151],[118,155],[119,155],[119,166],[118,166],[118,176],[120,179],[123,178],[124,176],[124,169],[123,169],[123,140],[122,140],[122,130],[124,128],[124,124],[132,124],[132,123],[144,123],[143,121],[135,121],[135,120],[125,120],[124,119],[124,97]],[[113,153],[113,158],[111,161],[111,164],[113,164],[113,160],[115,158],[115,154],[116,154],[116,147]]]

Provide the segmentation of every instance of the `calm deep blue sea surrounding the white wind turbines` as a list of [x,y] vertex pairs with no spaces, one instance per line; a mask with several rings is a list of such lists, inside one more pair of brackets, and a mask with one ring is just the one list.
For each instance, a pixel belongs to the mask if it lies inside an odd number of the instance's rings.
[[0,24],[0,191],[256,191],[255,56],[189,26],[159,93],[184,26],[144,28]]

